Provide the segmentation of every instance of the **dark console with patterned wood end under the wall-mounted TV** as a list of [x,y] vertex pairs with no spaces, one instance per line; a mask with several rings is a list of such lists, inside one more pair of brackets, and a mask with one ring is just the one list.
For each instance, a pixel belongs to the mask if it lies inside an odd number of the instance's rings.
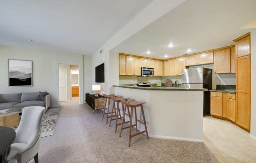
[[99,96],[94,96],[95,94],[86,93],[85,101],[94,110],[99,110],[104,108],[104,103],[106,98],[99,94]]

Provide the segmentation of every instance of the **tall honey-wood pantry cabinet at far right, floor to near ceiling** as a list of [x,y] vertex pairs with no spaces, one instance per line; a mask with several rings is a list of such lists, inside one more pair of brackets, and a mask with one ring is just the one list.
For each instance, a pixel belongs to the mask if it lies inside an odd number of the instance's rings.
[[250,130],[251,123],[251,41],[250,33],[236,43],[236,123]]

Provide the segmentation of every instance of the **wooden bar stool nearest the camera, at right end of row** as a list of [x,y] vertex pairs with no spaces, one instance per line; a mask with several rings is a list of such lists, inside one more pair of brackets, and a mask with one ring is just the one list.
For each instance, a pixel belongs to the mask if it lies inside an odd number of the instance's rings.
[[[130,132],[129,132],[129,147],[131,146],[131,138],[140,134],[143,134],[144,132],[146,132],[147,138],[148,138],[148,129],[147,129],[147,125],[146,125],[146,119],[145,119],[145,115],[144,115],[144,110],[143,110],[143,104],[145,102],[139,102],[139,101],[135,101],[135,100],[128,100],[126,101],[126,105],[127,107],[131,107],[131,115],[130,115]],[[143,121],[138,120],[137,119],[137,107],[141,107],[141,114],[143,117]],[[137,132],[136,134],[132,134],[132,115],[133,115],[133,109],[134,109],[134,113],[135,113],[135,126],[136,126],[136,131],[137,129],[137,122],[142,123],[145,126],[145,130],[141,131],[141,132]],[[123,122],[123,121],[122,121]],[[121,124],[121,128],[122,128],[122,124]]]

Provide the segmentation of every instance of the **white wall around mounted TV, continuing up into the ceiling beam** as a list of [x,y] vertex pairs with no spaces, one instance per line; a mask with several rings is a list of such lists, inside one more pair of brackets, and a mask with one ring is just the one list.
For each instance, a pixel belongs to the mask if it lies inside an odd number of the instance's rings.
[[[102,45],[102,47],[95,54],[93,54],[91,60],[92,84],[95,84],[95,67],[101,63],[104,63],[105,82],[101,83],[101,91],[99,91],[100,93],[105,92],[106,94],[109,94],[110,92],[113,92],[113,88],[111,88],[112,85],[119,84],[118,54],[110,51],[121,42],[183,2],[185,2],[185,0],[161,0],[161,2],[159,2],[159,0],[154,0],[141,13],[135,16],[119,32],[110,38],[110,40]],[[101,49],[103,49],[102,54],[100,54]]]

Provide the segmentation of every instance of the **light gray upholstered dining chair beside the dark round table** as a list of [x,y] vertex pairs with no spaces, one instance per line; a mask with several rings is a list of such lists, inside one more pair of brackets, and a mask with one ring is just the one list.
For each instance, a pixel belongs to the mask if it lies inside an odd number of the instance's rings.
[[22,110],[20,125],[16,129],[16,138],[7,158],[8,163],[26,163],[33,158],[35,163],[38,163],[44,114],[44,107],[25,107]]

